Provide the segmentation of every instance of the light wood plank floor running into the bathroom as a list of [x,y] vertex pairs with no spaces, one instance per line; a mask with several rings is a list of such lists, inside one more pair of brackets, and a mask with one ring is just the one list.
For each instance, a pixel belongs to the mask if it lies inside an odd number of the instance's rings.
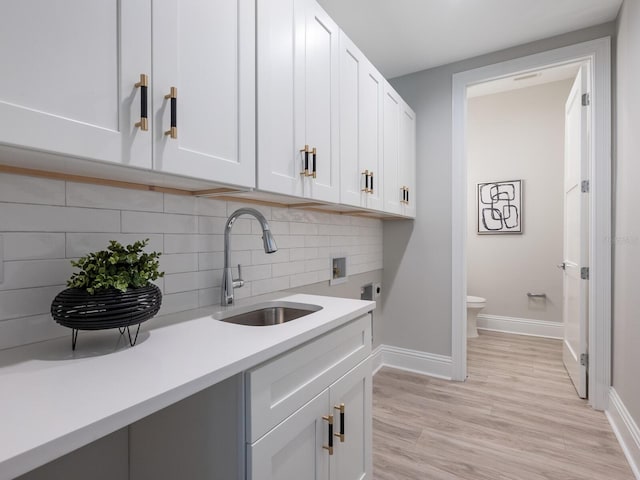
[[383,368],[376,480],[633,480],[602,412],[577,397],[560,340],[481,332],[466,382]]

